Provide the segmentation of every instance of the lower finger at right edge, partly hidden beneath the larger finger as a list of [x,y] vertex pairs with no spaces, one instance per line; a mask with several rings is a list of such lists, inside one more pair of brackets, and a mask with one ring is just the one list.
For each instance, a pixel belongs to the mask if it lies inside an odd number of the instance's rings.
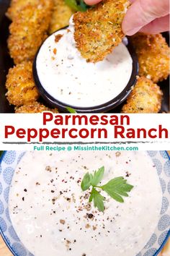
[[157,18],[150,22],[148,25],[141,28],[140,32],[149,33],[149,34],[157,34],[161,32],[165,32],[169,30],[169,15],[165,17]]

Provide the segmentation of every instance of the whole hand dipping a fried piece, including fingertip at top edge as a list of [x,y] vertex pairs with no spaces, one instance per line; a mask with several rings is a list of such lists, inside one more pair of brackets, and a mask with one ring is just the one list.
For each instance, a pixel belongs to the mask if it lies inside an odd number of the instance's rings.
[[[101,0],[84,0],[97,4]],[[169,30],[169,0],[130,0],[132,5],[125,14],[122,30],[125,35],[161,33]]]

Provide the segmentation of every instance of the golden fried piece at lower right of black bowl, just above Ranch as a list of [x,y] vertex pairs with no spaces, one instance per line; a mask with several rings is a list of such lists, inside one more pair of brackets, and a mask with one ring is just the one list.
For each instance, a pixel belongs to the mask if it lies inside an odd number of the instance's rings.
[[161,109],[162,91],[146,77],[139,77],[122,113],[158,113]]

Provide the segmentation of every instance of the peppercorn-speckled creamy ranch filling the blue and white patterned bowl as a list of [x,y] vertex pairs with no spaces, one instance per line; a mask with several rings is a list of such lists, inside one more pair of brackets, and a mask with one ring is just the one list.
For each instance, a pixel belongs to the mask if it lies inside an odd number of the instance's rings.
[[[101,166],[102,184],[129,174],[134,186],[123,203],[102,193],[104,213],[81,190],[86,171]],[[135,256],[156,228],[161,197],[156,167],[145,152],[30,152],[15,170],[9,215],[35,256]]]

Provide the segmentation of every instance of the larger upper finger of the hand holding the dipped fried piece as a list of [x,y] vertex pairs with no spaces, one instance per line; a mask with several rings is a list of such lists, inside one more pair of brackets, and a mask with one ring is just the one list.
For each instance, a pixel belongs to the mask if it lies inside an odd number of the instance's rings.
[[122,30],[126,35],[133,35],[156,18],[169,14],[169,0],[131,1],[133,4],[122,22]]

